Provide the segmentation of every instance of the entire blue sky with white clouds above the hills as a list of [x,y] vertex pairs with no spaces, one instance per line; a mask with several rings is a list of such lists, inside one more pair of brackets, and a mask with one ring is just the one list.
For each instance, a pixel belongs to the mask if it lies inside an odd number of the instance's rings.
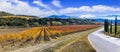
[[120,0],[0,0],[0,11],[16,15],[109,18],[120,15]]

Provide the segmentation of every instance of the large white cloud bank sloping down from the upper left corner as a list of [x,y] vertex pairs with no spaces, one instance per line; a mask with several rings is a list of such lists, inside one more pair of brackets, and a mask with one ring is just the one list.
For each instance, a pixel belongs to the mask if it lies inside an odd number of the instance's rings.
[[[16,3],[16,5],[12,4],[12,2]],[[6,11],[13,14],[34,15],[40,17],[49,16],[56,13],[54,10],[42,10],[38,7],[32,7],[28,3],[19,0],[0,1],[0,11]]]

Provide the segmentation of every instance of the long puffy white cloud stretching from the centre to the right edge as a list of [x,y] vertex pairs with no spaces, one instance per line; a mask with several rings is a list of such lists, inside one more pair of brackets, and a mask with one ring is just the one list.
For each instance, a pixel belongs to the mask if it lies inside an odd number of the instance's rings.
[[120,12],[120,8],[105,6],[105,5],[94,5],[90,6],[81,6],[78,8],[66,8],[59,11],[60,13],[76,13],[76,12],[91,12],[91,13],[103,13],[103,12]]

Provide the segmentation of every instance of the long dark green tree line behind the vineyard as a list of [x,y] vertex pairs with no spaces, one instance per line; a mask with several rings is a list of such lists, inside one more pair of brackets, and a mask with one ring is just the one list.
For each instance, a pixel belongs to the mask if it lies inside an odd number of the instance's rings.
[[94,19],[75,19],[75,18],[0,18],[0,26],[53,26],[53,25],[74,25],[74,24],[93,24]]

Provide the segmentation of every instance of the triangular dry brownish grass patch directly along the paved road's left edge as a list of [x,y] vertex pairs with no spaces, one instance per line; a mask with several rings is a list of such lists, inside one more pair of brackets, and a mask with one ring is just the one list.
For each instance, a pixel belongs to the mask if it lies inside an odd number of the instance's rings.
[[87,39],[90,32],[86,32],[84,36],[78,37],[74,42],[64,46],[59,52],[96,52]]

